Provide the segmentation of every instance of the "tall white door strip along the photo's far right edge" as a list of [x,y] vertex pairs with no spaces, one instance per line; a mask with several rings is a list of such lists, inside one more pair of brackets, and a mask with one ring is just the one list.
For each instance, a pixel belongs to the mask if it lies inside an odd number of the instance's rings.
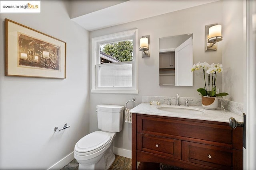
[[256,1],[244,0],[244,112],[246,113],[246,149],[244,170],[256,169]]

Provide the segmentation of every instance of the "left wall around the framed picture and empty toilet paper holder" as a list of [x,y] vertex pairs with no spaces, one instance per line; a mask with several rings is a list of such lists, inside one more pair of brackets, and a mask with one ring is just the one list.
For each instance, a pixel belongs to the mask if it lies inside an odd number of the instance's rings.
[[[0,14],[0,169],[60,169],[89,132],[89,32],[69,8],[41,0],[41,14]],[[65,41],[66,79],[4,76],[5,18]]]

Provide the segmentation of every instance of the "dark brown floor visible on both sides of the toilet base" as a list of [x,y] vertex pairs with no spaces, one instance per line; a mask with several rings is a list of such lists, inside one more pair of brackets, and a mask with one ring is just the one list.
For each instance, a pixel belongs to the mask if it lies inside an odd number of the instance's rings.
[[[132,169],[132,159],[125,158],[119,155],[116,155],[116,159],[113,164],[110,166],[109,170],[131,170]],[[78,170],[78,162],[76,159],[69,162],[61,170]]]

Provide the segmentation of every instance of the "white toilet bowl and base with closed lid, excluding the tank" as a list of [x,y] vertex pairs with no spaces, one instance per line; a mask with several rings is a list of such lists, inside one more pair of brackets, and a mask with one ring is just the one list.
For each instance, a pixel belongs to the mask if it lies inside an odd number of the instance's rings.
[[74,150],[79,170],[107,170],[115,160],[113,139],[116,133],[95,131],[80,139]]

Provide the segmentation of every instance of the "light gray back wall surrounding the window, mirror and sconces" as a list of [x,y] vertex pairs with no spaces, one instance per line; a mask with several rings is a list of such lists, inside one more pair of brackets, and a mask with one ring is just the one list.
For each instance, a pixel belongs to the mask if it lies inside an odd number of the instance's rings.
[[[132,97],[141,103],[142,96],[176,96],[200,97],[196,89],[204,87],[202,72],[194,72],[194,86],[166,87],[159,86],[159,38],[193,33],[194,63],[207,61],[208,63],[222,62],[222,42],[218,43],[217,51],[204,51],[205,25],[222,24],[222,12],[209,15],[208,9],[222,11],[222,1],[205,4],[186,10],[180,10],[145,20],[108,27],[90,32],[90,38],[138,28],[138,41],[143,35],[150,35],[150,57],[142,58],[138,54],[138,95],[132,94],[94,94],[90,93],[90,132],[98,130],[96,105],[118,104],[125,105]],[[139,42],[138,42],[139,44]],[[218,75],[217,88],[221,87],[221,74]],[[131,125],[124,123],[124,129],[118,133],[114,147],[131,150]]]

